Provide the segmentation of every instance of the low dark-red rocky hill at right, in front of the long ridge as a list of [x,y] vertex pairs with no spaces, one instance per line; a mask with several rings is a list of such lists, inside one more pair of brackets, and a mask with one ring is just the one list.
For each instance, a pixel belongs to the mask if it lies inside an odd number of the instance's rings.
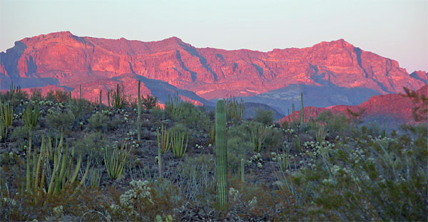
[[[421,89],[417,90],[418,95],[424,95],[428,97],[428,85],[422,86]],[[317,115],[323,111],[332,111],[332,113],[343,113],[348,118],[352,118],[352,113],[361,113],[359,117],[364,122],[377,122],[379,126],[387,124],[388,128],[396,128],[402,123],[415,123],[412,116],[412,109],[416,106],[422,106],[421,101],[414,101],[409,97],[404,96],[405,94],[386,94],[372,96],[368,101],[363,102],[357,106],[330,106],[326,108],[320,107],[305,107],[304,114],[308,118],[309,115],[312,118],[316,118]],[[300,108],[300,107],[299,107]],[[293,113],[285,116],[280,120],[292,121]],[[295,111],[294,116],[296,119],[300,118],[300,111]],[[425,119],[425,121],[427,121]]]

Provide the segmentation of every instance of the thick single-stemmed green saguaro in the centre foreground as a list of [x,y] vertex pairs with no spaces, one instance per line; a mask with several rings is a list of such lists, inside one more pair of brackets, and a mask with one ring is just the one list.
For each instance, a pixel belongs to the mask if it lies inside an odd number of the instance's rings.
[[225,101],[215,105],[215,156],[217,157],[217,203],[222,210],[228,208],[228,147],[226,140]]

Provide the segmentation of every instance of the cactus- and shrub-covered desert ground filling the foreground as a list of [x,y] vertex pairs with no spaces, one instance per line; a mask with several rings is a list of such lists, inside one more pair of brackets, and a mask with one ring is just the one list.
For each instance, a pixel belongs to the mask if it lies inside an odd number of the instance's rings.
[[0,94],[2,221],[427,220],[426,122],[389,132],[302,101],[279,124],[234,98],[107,95]]

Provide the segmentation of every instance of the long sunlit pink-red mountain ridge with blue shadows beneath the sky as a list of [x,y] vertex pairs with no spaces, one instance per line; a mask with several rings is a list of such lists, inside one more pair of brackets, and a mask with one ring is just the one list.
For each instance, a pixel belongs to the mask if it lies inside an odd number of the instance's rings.
[[343,39],[261,52],[195,48],[176,37],[143,42],[64,31],[16,41],[0,54],[0,89],[14,81],[22,88],[60,86],[77,95],[81,85],[83,97],[95,99],[99,90],[123,84],[135,97],[138,80],[142,94],[161,101],[177,92],[194,104],[237,96],[285,114],[300,91],[311,98],[307,105],[355,105],[373,95],[402,92],[403,86],[419,89],[428,78]]

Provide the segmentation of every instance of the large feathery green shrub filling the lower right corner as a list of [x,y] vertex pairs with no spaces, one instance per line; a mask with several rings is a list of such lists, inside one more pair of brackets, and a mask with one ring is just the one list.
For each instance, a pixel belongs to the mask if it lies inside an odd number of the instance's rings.
[[[347,138],[336,148],[320,148],[315,164],[283,181],[300,204],[330,221],[424,221],[428,201],[427,127],[408,126],[397,138]],[[304,191],[305,195],[301,195]],[[330,218],[326,218],[330,216]]]

